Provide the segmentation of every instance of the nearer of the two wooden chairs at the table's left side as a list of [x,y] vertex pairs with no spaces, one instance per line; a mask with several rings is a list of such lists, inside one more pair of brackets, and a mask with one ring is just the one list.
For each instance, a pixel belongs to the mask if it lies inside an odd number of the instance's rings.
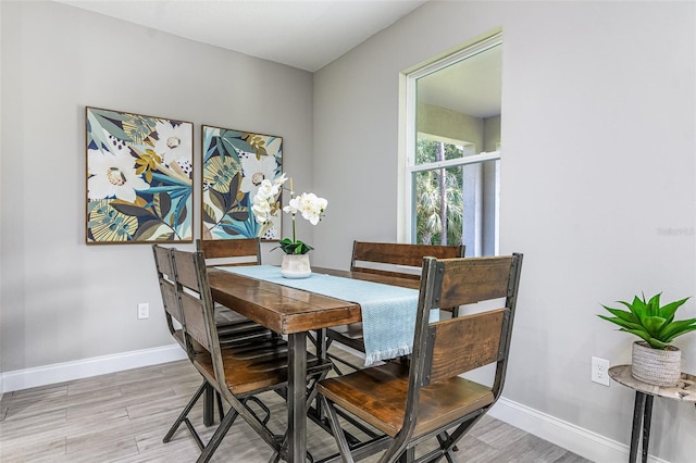
[[[223,346],[214,320],[214,308],[204,255],[201,251],[173,251],[173,268],[178,291],[184,334],[190,339],[189,359],[231,409],[203,447],[198,462],[208,462],[237,416],[241,416],[261,438],[283,455],[284,439],[275,436],[249,406],[248,400],[265,391],[284,396],[288,375],[288,345],[281,337],[263,341],[247,340]],[[197,346],[198,349],[190,349]],[[331,363],[314,355],[307,358],[308,403],[315,395],[315,383],[331,370]]]

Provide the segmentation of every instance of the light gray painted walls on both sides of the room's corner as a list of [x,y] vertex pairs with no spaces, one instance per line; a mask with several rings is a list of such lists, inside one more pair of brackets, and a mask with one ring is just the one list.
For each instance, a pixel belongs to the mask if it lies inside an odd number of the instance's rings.
[[[171,343],[149,247],[84,245],[85,105],[194,122],[198,163],[200,124],[284,136],[296,185],[330,201],[301,232],[312,259],[347,267],[352,239],[398,235],[399,73],[501,26],[501,250],[525,253],[505,396],[627,442],[633,396],[591,383],[589,362],[627,363],[632,338],[595,314],[696,293],[695,8],[431,1],[312,83],[66,5],[0,2],[2,372]],[[676,345],[696,371],[695,336]],[[651,453],[692,461],[693,409],[656,403]]]

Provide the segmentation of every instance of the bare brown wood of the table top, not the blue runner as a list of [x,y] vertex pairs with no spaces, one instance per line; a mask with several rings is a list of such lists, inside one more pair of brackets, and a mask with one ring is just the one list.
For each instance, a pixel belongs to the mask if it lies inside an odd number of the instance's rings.
[[[313,273],[418,289],[419,276],[398,278],[370,273],[312,267]],[[287,335],[361,321],[360,304],[275,283],[208,270],[213,300],[276,333]]]

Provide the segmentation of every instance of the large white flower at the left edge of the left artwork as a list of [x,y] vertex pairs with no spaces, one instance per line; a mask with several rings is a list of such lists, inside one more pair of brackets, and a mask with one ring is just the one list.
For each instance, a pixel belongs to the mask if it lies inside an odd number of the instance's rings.
[[135,173],[135,159],[120,151],[89,150],[87,196],[89,199],[117,198],[135,201],[135,190],[147,190],[150,185]]

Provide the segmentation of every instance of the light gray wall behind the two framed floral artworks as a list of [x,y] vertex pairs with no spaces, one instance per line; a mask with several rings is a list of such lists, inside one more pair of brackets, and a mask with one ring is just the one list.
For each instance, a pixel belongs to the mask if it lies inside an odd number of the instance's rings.
[[201,124],[283,136],[311,188],[312,75],[54,2],[0,5],[2,371],[171,345],[150,247],[84,243],[85,105],[195,124],[199,236]]

